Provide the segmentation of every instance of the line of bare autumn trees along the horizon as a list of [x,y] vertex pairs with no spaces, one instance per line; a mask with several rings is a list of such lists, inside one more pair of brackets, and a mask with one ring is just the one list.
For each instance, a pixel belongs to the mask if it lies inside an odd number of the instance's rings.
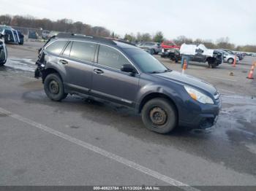
[[[102,37],[113,37],[120,38],[118,34],[110,32],[107,28],[102,26],[91,26],[80,21],[72,21],[70,19],[64,18],[61,20],[50,20],[48,18],[38,19],[33,16],[20,16],[20,15],[0,15],[0,24],[7,26],[20,26],[26,28],[42,28],[49,31],[61,31],[61,32],[71,32],[76,34],[86,34],[93,36]],[[125,34],[124,40],[129,42],[162,42],[165,39],[162,31],[157,31],[156,34],[140,33],[137,34]],[[222,37],[213,42],[210,39],[190,39],[186,36],[178,36],[176,39],[172,39],[177,45],[183,43],[187,44],[205,44],[206,47],[211,49],[225,48],[229,50],[237,50],[241,52],[256,52],[255,45],[245,45],[236,46],[231,43],[228,37]]]

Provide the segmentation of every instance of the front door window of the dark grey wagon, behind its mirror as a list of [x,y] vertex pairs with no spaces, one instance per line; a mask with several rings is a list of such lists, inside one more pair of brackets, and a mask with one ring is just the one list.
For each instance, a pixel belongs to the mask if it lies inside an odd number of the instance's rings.
[[98,63],[113,69],[121,69],[124,64],[130,64],[120,52],[104,45],[99,46]]

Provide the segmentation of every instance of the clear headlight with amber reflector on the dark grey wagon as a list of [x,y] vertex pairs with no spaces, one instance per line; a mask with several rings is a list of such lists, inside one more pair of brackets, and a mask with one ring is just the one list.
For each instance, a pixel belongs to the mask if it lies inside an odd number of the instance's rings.
[[200,91],[195,90],[192,87],[184,86],[184,88],[192,99],[199,101],[202,104],[214,104],[214,101],[208,95],[200,93]]

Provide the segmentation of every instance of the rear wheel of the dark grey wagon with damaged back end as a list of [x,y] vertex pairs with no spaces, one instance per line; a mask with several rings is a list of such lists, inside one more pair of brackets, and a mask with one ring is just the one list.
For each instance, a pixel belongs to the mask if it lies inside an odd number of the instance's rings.
[[48,74],[44,82],[45,94],[53,101],[61,101],[67,97],[64,85],[59,74]]

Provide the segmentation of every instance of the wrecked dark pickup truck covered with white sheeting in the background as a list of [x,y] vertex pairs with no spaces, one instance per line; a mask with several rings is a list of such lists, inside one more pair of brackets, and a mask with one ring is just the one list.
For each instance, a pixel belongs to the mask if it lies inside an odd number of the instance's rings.
[[222,51],[208,49],[203,44],[182,44],[180,52],[181,55],[189,55],[190,61],[208,63],[211,69],[223,63]]

